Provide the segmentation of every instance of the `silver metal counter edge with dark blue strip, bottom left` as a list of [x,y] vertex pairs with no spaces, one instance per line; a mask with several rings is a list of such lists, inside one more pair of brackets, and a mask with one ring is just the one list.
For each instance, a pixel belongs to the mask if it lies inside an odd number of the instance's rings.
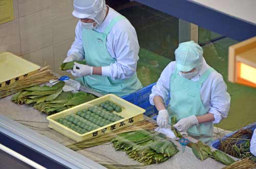
[[[3,115],[0,115],[0,140],[4,146],[47,168],[53,165],[55,168],[57,165],[58,168],[105,168]],[[52,162],[46,162],[47,159]]]

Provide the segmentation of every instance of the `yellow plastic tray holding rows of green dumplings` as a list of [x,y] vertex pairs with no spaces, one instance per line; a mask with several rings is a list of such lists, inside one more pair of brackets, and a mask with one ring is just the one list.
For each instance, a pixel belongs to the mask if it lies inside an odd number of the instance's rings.
[[[95,129],[93,131],[90,131],[88,133],[84,133],[84,134],[79,134],[79,133],[75,132],[74,130],[56,122],[56,119],[63,118],[66,115],[69,115],[71,113],[76,113],[83,109],[88,109],[91,106],[98,105],[101,102],[105,102],[107,100],[115,103],[116,105],[118,105],[122,108],[122,112],[116,113],[114,111],[113,113],[124,117],[123,119],[118,120],[117,122],[114,122],[112,124],[103,126],[101,128]],[[142,109],[130,102],[127,102],[114,94],[106,94],[98,99],[95,99],[90,102],[83,103],[83,104],[75,106],[73,108],[50,115],[47,117],[47,119],[49,120],[49,127],[52,128],[53,130],[56,130],[57,132],[71,138],[72,140],[82,141],[87,138],[98,137],[103,134],[110,133],[112,131],[116,131],[121,128],[127,127],[127,126],[131,126],[134,123],[139,122],[140,120],[144,119],[144,116],[143,116],[144,112],[145,112],[144,109]]]

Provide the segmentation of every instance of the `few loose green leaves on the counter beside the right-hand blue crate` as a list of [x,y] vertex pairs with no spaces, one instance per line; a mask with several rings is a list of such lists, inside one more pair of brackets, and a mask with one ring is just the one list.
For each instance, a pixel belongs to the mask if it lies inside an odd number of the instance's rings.
[[208,157],[212,157],[225,165],[230,165],[234,162],[234,160],[231,157],[229,157],[222,151],[216,150],[211,152],[210,147],[204,144],[202,141],[192,143],[191,148],[195,156],[200,160],[205,160]]

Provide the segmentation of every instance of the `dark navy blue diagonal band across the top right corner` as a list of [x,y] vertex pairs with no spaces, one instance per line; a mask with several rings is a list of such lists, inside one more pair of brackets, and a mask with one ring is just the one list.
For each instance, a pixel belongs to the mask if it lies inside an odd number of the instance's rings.
[[256,36],[256,25],[187,0],[136,0],[234,40]]

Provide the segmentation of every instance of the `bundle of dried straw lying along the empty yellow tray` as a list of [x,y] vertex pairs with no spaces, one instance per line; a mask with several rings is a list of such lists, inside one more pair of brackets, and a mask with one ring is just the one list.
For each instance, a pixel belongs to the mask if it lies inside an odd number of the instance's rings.
[[14,94],[18,91],[24,90],[34,85],[44,84],[51,79],[56,79],[52,74],[50,66],[40,68],[37,73],[30,75],[22,80],[11,83],[10,85],[0,88],[0,99],[5,98],[8,95]]

